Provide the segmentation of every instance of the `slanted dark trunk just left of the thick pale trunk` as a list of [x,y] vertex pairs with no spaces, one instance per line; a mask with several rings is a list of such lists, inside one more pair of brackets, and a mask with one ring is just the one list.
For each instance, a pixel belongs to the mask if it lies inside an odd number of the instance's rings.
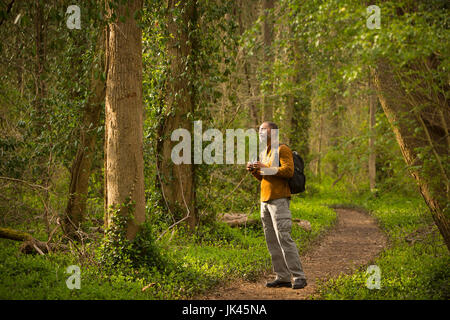
[[[84,108],[83,123],[80,128],[80,143],[72,164],[69,186],[69,199],[64,217],[64,232],[73,236],[83,221],[86,210],[86,199],[91,175],[92,160],[95,155],[97,129],[100,124],[100,114],[105,101],[105,81],[96,78],[95,74],[104,71],[105,37],[100,35],[97,44],[99,52],[99,67],[92,68],[90,95]],[[94,63],[95,65],[95,63]]]

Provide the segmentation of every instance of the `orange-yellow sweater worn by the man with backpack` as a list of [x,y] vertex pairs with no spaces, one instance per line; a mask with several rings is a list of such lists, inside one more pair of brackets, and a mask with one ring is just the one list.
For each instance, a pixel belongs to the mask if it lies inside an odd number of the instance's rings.
[[[272,150],[267,154],[266,150],[261,153],[261,162],[266,166],[272,167],[275,155],[272,154]],[[288,179],[294,175],[292,151],[284,144],[280,145],[278,150],[280,166],[275,175],[261,175],[260,170],[252,172],[252,175],[261,181],[261,201],[291,197]],[[274,165],[277,164],[274,163]]]

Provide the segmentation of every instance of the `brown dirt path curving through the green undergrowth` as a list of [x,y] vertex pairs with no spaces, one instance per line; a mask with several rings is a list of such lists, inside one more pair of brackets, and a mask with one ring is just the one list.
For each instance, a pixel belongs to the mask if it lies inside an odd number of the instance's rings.
[[275,277],[269,273],[257,282],[235,281],[196,299],[308,299],[315,292],[317,279],[352,273],[358,266],[370,263],[387,244],[387,238],[375,219],[353,209],[336,209],[336,212],[336,226],[301,257],[308,280],[306,288],[266,288],[265,283]]

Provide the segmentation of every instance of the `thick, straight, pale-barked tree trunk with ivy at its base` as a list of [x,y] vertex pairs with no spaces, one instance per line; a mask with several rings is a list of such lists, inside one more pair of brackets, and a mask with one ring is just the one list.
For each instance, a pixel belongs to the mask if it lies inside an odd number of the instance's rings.
[[[106,42],[107,80],[105,102],[105,225],[112,211],[133,215],[127,239],[133,239],[145,221],[142,30],[134,19],[142,0],[108,8],[115,21],[108,25]],[[133,202],[129,212],[121,207]],[[129,208],[129,207],[128,207]]]

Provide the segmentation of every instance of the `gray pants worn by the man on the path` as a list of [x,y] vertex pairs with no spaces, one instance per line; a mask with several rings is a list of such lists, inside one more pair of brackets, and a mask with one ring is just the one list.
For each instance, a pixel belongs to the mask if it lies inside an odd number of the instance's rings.
[[297,246],[291,237],[292,216],[290,199],[280,198],[261,202],[261,221],[267,249],[272,257],[273,271],[277,279],[291,281],[306,279]]

